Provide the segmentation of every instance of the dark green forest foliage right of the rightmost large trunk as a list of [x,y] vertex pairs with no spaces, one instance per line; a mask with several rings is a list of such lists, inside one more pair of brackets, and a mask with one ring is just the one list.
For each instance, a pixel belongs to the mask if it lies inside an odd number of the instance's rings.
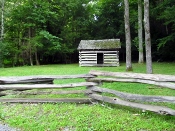
[[[158,47],[156,55],[161,56],[159,60],[175,59],[175,1],[153,2],[153,15],[157,16],[153,20],[155,29],[155,45]],[[154,57],[154,56],[153,56]]]

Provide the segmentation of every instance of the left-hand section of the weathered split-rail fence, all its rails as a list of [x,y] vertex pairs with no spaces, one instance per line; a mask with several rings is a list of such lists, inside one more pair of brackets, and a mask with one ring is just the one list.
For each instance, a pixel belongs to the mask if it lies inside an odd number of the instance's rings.
[[[45,75],[45,76],[19,76],[19,77],[0,77],[0,102],[8,103],[91,103],[93,99],[86,98],[6,98],[8,95],[50,95],[50,94],[86,94],[86,88],[76,90],[77,87],[89,87],[98,85],[94,82],[77,82],[67,84],[54,84],[54,80],[62,79],[87,79],[93,75]],[[60,90],[73,88],[74,90]],[[11,90],[12,92],[8,92]]]

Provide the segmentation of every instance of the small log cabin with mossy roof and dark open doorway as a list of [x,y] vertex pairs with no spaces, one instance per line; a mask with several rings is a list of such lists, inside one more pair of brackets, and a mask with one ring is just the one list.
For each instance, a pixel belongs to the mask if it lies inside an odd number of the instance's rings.
[[119,66],[120,39],[81,40],[79,66]]

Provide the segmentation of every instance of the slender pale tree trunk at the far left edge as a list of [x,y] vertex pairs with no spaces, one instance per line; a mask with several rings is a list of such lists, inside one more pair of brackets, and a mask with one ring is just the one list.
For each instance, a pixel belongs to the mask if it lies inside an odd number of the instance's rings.
[[3,67],[3,53],[2,53],[2,42],[4,38],[4,2],[1,0],[1,36],[0,36],[0,67]]

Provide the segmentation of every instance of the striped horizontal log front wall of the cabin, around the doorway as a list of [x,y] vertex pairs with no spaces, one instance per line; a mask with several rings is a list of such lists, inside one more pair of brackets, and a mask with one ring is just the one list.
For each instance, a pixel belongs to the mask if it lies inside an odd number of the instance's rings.
[[[103,53],[103,64],[97,64],[98,53]],[[119,51],[79,51],[79,66],[119,66]]]

